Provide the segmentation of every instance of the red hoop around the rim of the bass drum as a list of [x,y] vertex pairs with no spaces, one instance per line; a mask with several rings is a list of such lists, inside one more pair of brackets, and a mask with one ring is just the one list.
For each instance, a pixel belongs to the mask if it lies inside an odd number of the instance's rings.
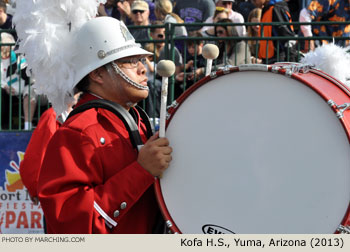
[[[220,69],[216,72],[213,72],[212,74],[202,78],[199,80],[195,85],[192,85],[190,88],[188,88],[183,94],[181,94],[174,102],[172,105],[169,106],[168,108],[168,118],[166,122],[166,127],[169,126],[169,123],[171,122],[172,115],[178,110],[178,108],[181,106],[181,104],[198,88],[200,88],[202,85],[207,84],[209,81],[214,80],[220,76],[226,75],[226,74],[231,74],[234,72],[244,72],[244,71],[261,71],[261,72],[271,72],[275,74],[281,74],[285,75],[286,77],[290,77],[292,79],[295,79],[301,83],[303,83],[305,86],[311,88],[314,92],[316,92],[320,97],[322,97],[326,102],[328,102],[328,97],[326,97],[323,93],[320,92],[320,90],[316,89],[315,86],[311,85],[308,83],[305,79],[302,78],[304,73],[307,72],[312,72],[315,75],[318,75],[329,82],[335,84],[336,87],[338,87],[341,91],[343,91],[347,96],[350,98],[350,88],[348,88],[345,84],[340,82],[338,79],[328,75],[327,73],[318,70],[318,69],[308,69],[306,72],[303,72],[301,69],[298,69],[296,72],[290,72],[288,67],[284,66],[290,66],[293,65],[292,63],[288,63],[285,65],[263,65],[260,64],[258,65],[242,65],[242,66],[236,66],[236,67],[226,67],[223,69]],[[296,63],[295,65],[300,65]],[[331,106],[334,112],[336,111],[336,108],[334,106]],[[346,127],[346,122],[344,121],[343,118],[339,118],[339,121],[341,122],[345,132],[347,133],[348,141],[350,142],[350,132],[348,132],[347,127]],[[349,124],[349,129],[350,129],[350,124]],[[174,222],[173,218],[171,217],[171,214],[169,212],[169,209],[167,208],[163,194],[162,194],[162,189],[160,186],[160,178],[156,178],[156,181],[154,183],[154,188],[155,188],[155,194],[156,198],[161,210],[161,213],[163,215],[163,218],[166,222],[167,227],[170,229],[172,233],[182,233],[180,229],[176,226],[176,223]],[[344,214],[344,217],[342,219],[342,222],[339,224],[339,227],[341,226],[349,227],[350,226],[350,202],[347,208],[347,211]],[[338,228],[337,230],[334,231],[335,234],[341,233],[341,230]]]

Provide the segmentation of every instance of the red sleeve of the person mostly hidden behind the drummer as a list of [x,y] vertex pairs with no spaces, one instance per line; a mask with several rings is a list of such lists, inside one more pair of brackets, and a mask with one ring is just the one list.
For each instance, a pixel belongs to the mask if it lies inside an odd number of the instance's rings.
[[19,171],[22,182],[32,197],[38,196],[37,185],[46,147],[60,125],[61,123],[56,120],[56,112],[53,108],[49,108],[41,115],[30,138]]

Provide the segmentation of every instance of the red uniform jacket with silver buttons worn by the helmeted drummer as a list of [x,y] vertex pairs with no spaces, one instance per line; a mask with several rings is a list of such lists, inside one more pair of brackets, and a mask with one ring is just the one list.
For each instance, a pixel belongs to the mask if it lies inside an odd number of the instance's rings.
[[[85,94],[77,106],[92,99]],[[139,129],[146,141],[143,123]],[[151,233],[159,211],[154,177],[137,155],[112,112],[90,109],[69,118],[52,137],[39,177],[48,232]]]

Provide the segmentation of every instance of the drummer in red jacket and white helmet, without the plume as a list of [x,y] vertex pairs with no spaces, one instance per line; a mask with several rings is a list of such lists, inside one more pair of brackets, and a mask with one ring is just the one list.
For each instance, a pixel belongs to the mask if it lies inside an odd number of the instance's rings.
[[134,116],[145,145],[137,153],[110,111],[68,118],[48,145],[39,178],[48,233],[151,233],[159,213],[152,185],[169,166],[172,149],[158,134],[146,141],[133,108],[148,96],[143,61],[149,53],[110,17],[88,21],[77,38],[75,83],[84,92],[77,107],[100,98],[121,105]]

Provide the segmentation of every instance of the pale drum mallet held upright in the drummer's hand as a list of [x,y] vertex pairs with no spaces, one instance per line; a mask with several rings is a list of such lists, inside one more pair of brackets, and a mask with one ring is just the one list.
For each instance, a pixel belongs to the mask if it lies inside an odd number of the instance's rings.
[[162,94],[159,115],[159,137],[165,137],[166,107],[168,98],[168,77],[175,73],[175,64],[170,60],[161,60],[157,64],[157,73],[162,76]]

